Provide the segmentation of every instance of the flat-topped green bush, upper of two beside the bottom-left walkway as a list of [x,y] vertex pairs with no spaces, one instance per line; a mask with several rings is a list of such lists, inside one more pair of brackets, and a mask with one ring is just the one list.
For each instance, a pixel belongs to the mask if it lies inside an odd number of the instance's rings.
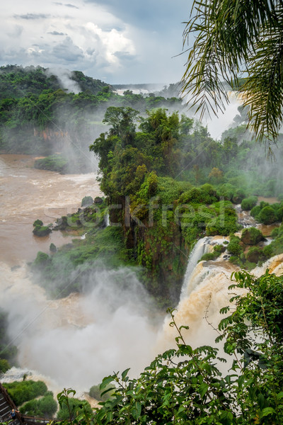
[[11,383],[5,382],[3,385],[16,406],[20,406],[24,402],[28,402],[40,395],[45,395],[47,392],[47,386],[42,381],[14,381]]

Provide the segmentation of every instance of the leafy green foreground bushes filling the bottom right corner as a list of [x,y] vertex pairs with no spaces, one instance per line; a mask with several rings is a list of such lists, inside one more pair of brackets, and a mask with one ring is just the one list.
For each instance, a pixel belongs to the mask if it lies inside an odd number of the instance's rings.
[[233,308],[220,310],[216,338],[229,360],[225,372],[218,349],[186,344],[188,327],[178,327],[169,310],[177,347],[156,356],[137,378],[129,378],[129,369],[105,377],[100,390],[107,392],[111,382],[116,390],[95,414],[82,414],[83,423],[281,424],[283,277],[239,271],[232,278]]

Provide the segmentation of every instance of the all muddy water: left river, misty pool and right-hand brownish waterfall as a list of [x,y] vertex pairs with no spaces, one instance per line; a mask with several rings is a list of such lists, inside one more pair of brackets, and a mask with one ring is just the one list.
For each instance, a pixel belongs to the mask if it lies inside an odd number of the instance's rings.
[[[54,392],[63,387],[87,391],[113,370],[130,367],[137,375],[157,353],[175,345],[176,335],[167,317],[152,322],[151,300],[132,270],[94,268],[90,292],[61,300],[48,300],[30,279],[26,262],[37,251],[48,252],[51,242],[59,246],[74,237],[61,232],[35,237],[33,222],[54,222],[76,211],[83,196],[100,195],[95,174],[35,170],[33,161],[27,155],[0,155],[0,307],[8,312],[8,332],[18,346],[21,366],[1,380],[21,379],[28,373],[44,379]],[[192,346],[214,344],[219,309],[229,303],[235,266],[224,254],[216,261],[197,263],[224,239],[201,239],[188,260],[175,318],[179,325],[190,326],[185,337]],[[277,256],[268,266],[281,271],[282,259]],[[263,273],[266,266],[253,272]],[[122,289],[115,285],[117,277],[125,282]]]

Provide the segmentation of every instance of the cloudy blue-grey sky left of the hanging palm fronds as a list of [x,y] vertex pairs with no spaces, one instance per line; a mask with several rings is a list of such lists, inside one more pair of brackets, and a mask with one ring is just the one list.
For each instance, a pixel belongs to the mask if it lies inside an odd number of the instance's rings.
[[76,69],[110,84],[175,83],[184,71],[183,22],[191,4],[6,1],[0,17],[0,65]]

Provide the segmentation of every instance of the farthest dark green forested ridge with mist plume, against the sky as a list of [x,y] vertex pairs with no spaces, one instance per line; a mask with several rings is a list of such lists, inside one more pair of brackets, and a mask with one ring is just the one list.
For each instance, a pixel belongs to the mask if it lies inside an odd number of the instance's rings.
[[[58,69],[56,72],[42,67],[20,67],[7,65],[0,67],[0,98],[23,98],[27,94],[40,95],[43,90],[63,89],[67,93],[81,91],[96,95],[103,87],[109,86],[98,79],[87,77],[81,71],[69,72]],[[112,87],[110,87],[112,90]]]

